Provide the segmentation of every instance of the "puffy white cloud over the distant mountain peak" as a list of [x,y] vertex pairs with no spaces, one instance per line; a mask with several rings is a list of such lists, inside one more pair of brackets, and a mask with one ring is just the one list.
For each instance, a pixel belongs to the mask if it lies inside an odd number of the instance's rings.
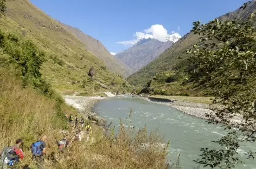
[[[171,31],[171,34],[175,34],[175,32]],[[163,27],[163,25],[160,24],[152,25],[149,29],[145,29],[143,32],[136,32],[133,36],[136,38],[131,41],[120,41],[117,43],[123,44],[125,46],[132,46],[141,38],[155,38],[156,40],[162,42],[172,40],[170,39],[171,36],[168,34],[167,30]]]

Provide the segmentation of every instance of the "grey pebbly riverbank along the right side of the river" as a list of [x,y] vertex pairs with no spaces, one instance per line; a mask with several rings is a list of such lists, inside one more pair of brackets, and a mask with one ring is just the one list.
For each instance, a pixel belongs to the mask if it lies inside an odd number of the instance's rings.
[[[178,109],[179,111],[182,111],[186,114],[196,116],[197,118],[201,119],[207,119],[206,114],[214,113],[212,110],[210,110],[210,105],[204,104],[204,103],[194,103],[194,102],[187,102],[187,101],[181,101],[181,100],[169,100],[169,99],[160,99],[160,98],[143,98],[144,100],[170,106],[175,109]],[[216,106],[216,105],[215,105]],[[220,119],[217,119],[217,121],[220,121]],[[230,124],[231,125],[238,125],[241,124],[242,116],[237,115],[233,119],[231,119]]]

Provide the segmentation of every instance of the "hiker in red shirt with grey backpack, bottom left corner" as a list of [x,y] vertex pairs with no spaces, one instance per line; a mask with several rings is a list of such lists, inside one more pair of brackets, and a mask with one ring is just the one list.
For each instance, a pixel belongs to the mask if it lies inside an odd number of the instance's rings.
[[3,149],[0,155],[1,169],[16,168],[15,165],[24,158],[22,147],[22,139],[17,139],[14,146],[5,147]]

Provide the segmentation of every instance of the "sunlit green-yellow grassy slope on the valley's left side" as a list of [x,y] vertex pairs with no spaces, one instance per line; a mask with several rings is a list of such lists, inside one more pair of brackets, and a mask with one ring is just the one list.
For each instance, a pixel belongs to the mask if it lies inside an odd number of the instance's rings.
[[[55,89],[98,92],[94,90],[98,82],[88,82],[91,67],[97,72],[96,79],[107,86],[114,81],[116,86],[112,88],[118,88],[124,82],[117,74],[101,69],[103,62],[87,51],[78,38],[29,1],[8,1],[7,7],[7,17],[1,18],[0,28],[21,36],[25,32],[25,38],[46,51],[48,61],[43,64],[42,73]],[[82,81],[85,81],[85,88],[80,87]]]

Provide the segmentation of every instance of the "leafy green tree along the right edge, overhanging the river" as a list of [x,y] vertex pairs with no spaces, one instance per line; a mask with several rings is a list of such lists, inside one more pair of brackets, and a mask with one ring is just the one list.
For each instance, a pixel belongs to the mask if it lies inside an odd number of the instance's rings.
[[[241,6],[244,10],[248,3]],[[211,168],[233,168],[242,163],[238,157],[241,142],[255,142],[256,133],[256,29],[254,14],[245,21],[219,21],[208,24],[194,22],[194,34],[201,35],[199,44],[187,49],[189,62],[195,65],[189,72],[190,80],[210,88],[215,96],[213,113],[207,114],[208,122],[223,122],[227,135],[217,141],[219,150],[201,148],[202,158],[197,164]],[[232,119],[242,115],[242,123]],[[231,126],[237,130],[233,131]],[[253,158],[256,152],[247,152]]]

